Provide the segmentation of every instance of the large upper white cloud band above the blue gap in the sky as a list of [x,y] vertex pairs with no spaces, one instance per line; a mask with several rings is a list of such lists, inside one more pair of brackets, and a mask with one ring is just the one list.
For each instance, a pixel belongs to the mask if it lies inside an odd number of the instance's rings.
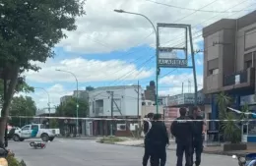
[[[160,3],[170,2],[168,0],[159,0]],[[208,4],[202,10],[224,11],[252,9],[253,0],[240,2],[233,0],[228,3],[224,0],[218,0],[212,3],[212,0],[192,0],[192,1],[172,1],[171,5],[200,9]],[[240,4],[239,4],[240,3]],[[239,4],[239,5],[237,5]],[[236,5],[235,8],[232,8]],[[216,14],[193,12],[169,8],[146,0],[91,0],[87,1],[87,15],[77,20],[78,28],[76,31],[67,32],[68,38],[63,39],[59,46],[63,46],[68,51],[83,53],[110,52],[112,50],[126,50],[137,44],[155,45],[155,34],[147,37],[153,32],[152,26],[140,16],[129,14],[120,14],[113,12],[114,9],[123,9],[130,12],[144,14],[152,20],[154,25],[157,23],[179,23],[191,24],[198,28],[205,27],[222,18],[237,18],[246,12]],[[164,11],[164,12],[163,12]],[[200,32],[199,32],[200,34]],[[198,33],[194,34],[197,36]],[[170,41],[172,44],[182,45],[181,34],[175,30],[164,32],[161,37],[162,42]],[[202,37],[194,39],[202,40]],[[184,44],[184,43],[183,43]],[[195,45],[195,48],[198,46]]]

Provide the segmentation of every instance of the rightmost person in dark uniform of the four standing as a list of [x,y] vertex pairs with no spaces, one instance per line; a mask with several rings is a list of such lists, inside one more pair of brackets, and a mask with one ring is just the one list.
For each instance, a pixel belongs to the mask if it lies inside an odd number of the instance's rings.
[[196,161],[195,165],[199,166],[201,164],[201,154],[203,152],[203,135],[205,134],[205,127],[206,123],[204,122],[204,118],[200,116],[201,110],[199,107],[194,106],[192,108],[193,115],[191,115],[189,118],[192,120],[198,120],[193,121],[195,133],[193,135],[193,149],[192,149],[192,162],[193,162],[193,155],[194,152],[196,153]]

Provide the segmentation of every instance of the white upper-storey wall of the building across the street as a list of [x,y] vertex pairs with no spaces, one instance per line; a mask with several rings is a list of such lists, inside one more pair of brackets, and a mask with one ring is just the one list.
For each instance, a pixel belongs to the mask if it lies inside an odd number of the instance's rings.
[[[137,98],[138,93],[136,85],[131,86],[111,86],[111,87],[98,87],[89,93],[89,103],[90,103],[90,116],[96,117],[96,114],[93,110],[93,104],[95,104],[96,100],[103,100],[103,112],[98,114],[98,116],[111,116],[111,96],[107,91],[114,92],[114,99],[120,99],[119,109],[121,110],[122,116],[137,116]],[[142,93],[142,89],[140,88],[139,93]],[[139,114],[141,114],[141,95],[139,95]],[[118,103],[117,103],[118,104]],[[113,104],[113,107],[116,107]],[[114,116],[121,116],[119,111],[113,112]]]

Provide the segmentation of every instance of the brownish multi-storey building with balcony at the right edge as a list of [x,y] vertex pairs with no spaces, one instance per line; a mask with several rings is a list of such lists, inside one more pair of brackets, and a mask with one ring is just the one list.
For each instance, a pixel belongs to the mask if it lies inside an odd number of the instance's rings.
[[[204,93],[212,95],[212,119],[218,119],[217,93],[231,95],[240,109],[255,95],[256,11],[238,19],[222,19],[203,29]],[[243,103],[241,102],[243,100]]]

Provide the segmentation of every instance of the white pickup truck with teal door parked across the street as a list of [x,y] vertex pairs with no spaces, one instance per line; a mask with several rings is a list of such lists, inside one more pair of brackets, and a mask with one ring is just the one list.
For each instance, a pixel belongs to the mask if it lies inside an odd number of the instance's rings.
[[55,134],[52,129],[45,129],[43,124],[26,125],[22,129],[15,130],[13,139],[23,141],[27,138],[41,138],[42,141],[52,141]]

